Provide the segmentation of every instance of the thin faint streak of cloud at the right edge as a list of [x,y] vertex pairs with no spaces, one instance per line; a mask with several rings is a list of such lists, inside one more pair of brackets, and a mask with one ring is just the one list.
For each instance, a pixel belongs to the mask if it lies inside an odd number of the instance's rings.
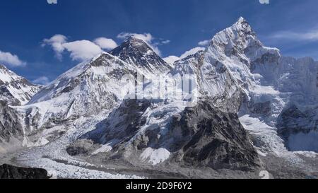
[[297,40],[297,41],[317,41],[318,29],[307,32],[279,31],[269,36],[273,39]]

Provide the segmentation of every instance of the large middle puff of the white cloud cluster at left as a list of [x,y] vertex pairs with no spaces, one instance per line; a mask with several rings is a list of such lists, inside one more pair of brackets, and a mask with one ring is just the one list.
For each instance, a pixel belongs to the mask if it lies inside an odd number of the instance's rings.
[[83,61],[91,59],[102,53],[102,49],[88,40],[79,40],[75,42],[64,43],[63,46],[71,52],[71,59]]

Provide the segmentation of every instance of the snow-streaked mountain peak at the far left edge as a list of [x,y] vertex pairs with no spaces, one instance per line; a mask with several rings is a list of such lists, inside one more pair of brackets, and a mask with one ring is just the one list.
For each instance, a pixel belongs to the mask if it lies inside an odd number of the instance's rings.
[[25,105],[40,88],[0,64],[0,100],[9,105]]

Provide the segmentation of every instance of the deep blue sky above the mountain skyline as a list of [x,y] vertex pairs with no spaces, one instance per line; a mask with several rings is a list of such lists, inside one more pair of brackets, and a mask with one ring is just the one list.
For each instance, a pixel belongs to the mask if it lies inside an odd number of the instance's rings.
[[318,59],[317,8],[317,0],[2,0],[0,61],[43,83],[132,33],[143,35],[162,57],[179,57],[240,16],[264,45]]

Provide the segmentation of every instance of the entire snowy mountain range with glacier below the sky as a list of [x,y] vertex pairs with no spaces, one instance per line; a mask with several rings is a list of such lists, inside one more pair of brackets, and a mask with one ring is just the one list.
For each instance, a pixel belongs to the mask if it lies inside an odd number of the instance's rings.
[[0,153],[57,177],[317,177],[317,65],[239,18],[173,65],[129,37],[47,86],[1,66]]

